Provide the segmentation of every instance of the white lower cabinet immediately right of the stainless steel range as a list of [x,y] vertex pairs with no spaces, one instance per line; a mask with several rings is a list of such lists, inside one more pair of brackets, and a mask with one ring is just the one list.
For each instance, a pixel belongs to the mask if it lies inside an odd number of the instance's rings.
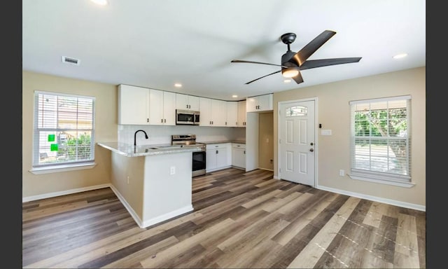
[[212,172],[231,166],[231,143],[207,144],[206,171]]

